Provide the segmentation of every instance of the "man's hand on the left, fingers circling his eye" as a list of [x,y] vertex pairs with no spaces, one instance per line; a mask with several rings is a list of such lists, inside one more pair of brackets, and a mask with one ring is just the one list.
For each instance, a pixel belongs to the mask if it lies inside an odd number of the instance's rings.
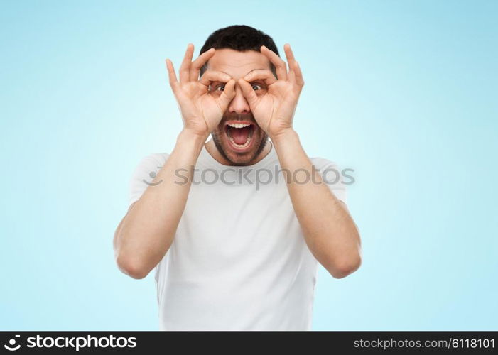
[[[207,138],[220,124],[224,112],[235,95],[235,80],[223,72],[214,70],[206,70],[199,79],[200,68],[215,54],[215,48],[202,53],[194,62],[192,62],[193,53],[194,45],[189,43],[180,66],[180,82],[169,59],[166,59],[166,67],[171,89],[180,107],[184,129]],[[224,83],[222,94],[210,92],[212,82]],[[217,88],[211,89],[217,90]]]

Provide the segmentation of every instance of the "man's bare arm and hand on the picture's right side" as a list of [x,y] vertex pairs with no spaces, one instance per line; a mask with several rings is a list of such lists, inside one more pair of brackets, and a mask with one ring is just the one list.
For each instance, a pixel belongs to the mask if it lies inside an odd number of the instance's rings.
[[[288,60],[286,62],[266,46],[262,45],[261,53],[274,64],[276,77],[270,70],[254,70],[239,79],[254,119],[275,144],[281,168],[294,175],[297,181],[290,181],[288,191],[306,244],[315,258],[335,278],[344,278],[359,268],[361,263],[359,233],[345,204],[337,200],[330,189],[315,171],[313,183],[312,164],[306,155],[297,133],[293,130],[293,116],[296,111],[298,97],[304,86],[303,73],[294,58],[291,45],[283,46]],[[256,95],[250,82],[264,80],[264,94]],[[286,169],[286,170],[284,170]],[[298,183],[306,178],[308,183]],[[295,174],[299,173],[299,174]]]

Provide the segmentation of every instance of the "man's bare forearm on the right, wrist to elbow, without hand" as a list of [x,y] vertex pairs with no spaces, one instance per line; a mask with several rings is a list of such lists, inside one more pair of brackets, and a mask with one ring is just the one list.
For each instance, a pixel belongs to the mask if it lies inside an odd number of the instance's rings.
[[361,259],[354,221],[320,172],[312,169],[295,131],[289,130],[272,141],[282,170],[289,172],[288,192],[306,244],[334,277],[345,277],[359,267]]

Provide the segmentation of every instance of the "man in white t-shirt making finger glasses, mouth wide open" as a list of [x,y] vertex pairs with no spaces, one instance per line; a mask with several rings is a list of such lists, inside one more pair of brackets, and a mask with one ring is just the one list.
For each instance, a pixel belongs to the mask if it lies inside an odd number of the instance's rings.
[[121,271],[155,269],[161,330],[308,330],[318,262],[359,268],[345,186],[323,174],[337,167],[293,130],[304,81],[284,50],[288,69],[268,35],[229,26],[194,61],[188,45],[179,80],[166,60],[184,128],[136,168],[114,234]]

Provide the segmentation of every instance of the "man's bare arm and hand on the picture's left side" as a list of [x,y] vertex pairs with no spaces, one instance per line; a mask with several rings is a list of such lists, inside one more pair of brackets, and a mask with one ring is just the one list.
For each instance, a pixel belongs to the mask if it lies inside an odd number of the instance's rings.
[[[114,233],[117,265],[132,278],[146,277],[173,243],[187,202],[192,167],[197,163],[207,136],[220,123],[235,95],[235,80],[227,74],[206,70],[199,78],[200,67],[215,54],[215,49],[205,51],[192,62],[193,52],[194,46],[189,43],[180,66],[180,81],[173,63],[166,60],[169,83],[183,119],[183,131],[163,168],[139,200],[131,204]],[[226,83],[220,96],[210,94],[209,87],[214,81]],[[187,181],[178,179],[175,173],[185,171],[190,173]]]

